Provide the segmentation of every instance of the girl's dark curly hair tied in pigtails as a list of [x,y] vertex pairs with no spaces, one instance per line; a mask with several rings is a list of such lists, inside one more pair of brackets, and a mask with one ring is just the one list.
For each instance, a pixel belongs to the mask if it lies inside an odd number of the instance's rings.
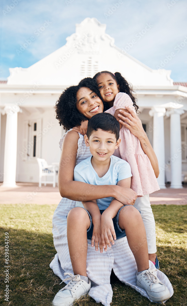
[[130,99],[133,102],[134,108],[137,113],[140,113],[138,110],[138,105],[136,104],[137,99],[133,96],[133,88],[131,84],[128,84],[128,82],[125,80],[125,78],[121,75],[119,72],[115,72],[114,74],[110,71],[101,71],[94,75],[93,79],[97,80],[97,77],[100,76],[102,73],[108,73],[112,76],[114,80],[116,80],[117,84],[119,85],[119,91],[125,92],[127,95],[130,96]]

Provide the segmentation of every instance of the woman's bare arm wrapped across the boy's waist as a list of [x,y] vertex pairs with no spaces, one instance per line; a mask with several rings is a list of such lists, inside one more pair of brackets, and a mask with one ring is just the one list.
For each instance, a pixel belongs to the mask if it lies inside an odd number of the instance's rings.
[[73,181],[74,168],[78,150],[79,134],[70,131],[64,137],[58,171],[58,186],[60,195],[74,201],[89,201],[112,196],[124,205],[136,200],[136,192],[130,188],[116,185],[95,186],[79,181]]

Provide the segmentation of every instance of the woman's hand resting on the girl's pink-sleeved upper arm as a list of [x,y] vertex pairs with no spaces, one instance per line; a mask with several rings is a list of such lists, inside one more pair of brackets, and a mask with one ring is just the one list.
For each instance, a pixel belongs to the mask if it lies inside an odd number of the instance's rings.
[[138,139],[140,140],[141,137],[145,137],[146,135],[141,120],[140,118],[138,118],[137,114],[135,114],[134,111],[130,109],[130,107],[127,106],[127,110],[129,113],[123,110],[119,110],[120,112],[120,114],[118,114],[118,117],[120,118],[119,123],[124,125],[127,129],[129,129],[130,132],[134,136],[138,137]]

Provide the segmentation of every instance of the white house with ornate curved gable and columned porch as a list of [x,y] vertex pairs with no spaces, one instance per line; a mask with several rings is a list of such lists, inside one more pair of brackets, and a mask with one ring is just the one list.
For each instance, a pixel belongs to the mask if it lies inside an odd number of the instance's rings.
[[[38,182],[37,157],[60,159],[64,130],[55,118],[61,92],[102,70],[119,71],[133,85],[140,118],[159,160],[161,188],[182,187],[187,173],[187,83],[173,83],[171,71],[153,70],[114,44],[95,18],[76,24],[67,43],[29,68],[10,68],[0,83],[0,181]],[[184,176],[184,175],[183,175]]]

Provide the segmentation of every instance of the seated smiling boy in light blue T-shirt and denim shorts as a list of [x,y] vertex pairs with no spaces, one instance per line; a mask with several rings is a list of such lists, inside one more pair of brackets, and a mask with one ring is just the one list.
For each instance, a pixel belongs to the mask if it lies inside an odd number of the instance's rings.
[[[85,144],[92,156],[75,166],[74,179],[92,185],[120,185],[130,188],[130,165],[116,156],[119,147],[119,122],[108,113],[94,115],[88,122]],[[112,247],[116,239],[127,236],[127,241],[137,263],[137,285],[153,301],[170,297],[167,287],[160,282],[156,269],[149,268],[145,227],[136,207],[124,206],[111,197],[82,202],[83,207],[72,208],[67,217],[69,254],[75,275],[57,293],[53,305],[73,305],[76,299],[89,292],[91,282],[86,275],[87,239],[100,252]],[[141,247],[136,247],[141,241]],[[66,278],[67,280],[67,278]]]

